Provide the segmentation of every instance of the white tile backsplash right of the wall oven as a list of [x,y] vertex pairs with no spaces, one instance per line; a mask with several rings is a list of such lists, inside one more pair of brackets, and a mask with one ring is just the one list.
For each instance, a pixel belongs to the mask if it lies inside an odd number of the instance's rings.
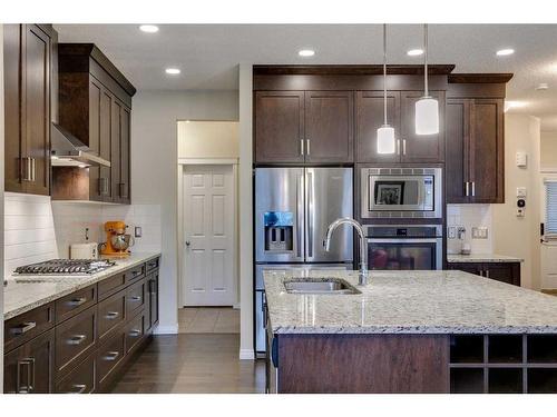
[[[447,205],[447,227],[463,226],[465,242],[470,244],[472,254],[491,254],[494,251],[491,206],[490,205]],[[472,239],[472,227],[486,227],[487,239]],[[462,241],[447,239],[447,252],[459,254]]]

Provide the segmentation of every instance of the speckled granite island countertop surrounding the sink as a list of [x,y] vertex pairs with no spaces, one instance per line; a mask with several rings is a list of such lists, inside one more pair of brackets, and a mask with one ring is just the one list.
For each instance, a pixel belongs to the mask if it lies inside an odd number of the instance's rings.
[[[356,271],[325,272],[356,286]],[[360,295],[287,294],[323,271],[264,272],[275,334],[557,334],[557,298],[457,270],[370,271]]]

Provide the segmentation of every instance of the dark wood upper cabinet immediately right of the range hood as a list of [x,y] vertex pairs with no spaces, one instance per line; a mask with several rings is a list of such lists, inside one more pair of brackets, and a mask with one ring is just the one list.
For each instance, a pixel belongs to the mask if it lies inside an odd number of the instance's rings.
[[110,167],[56,167],[52,198],[129,203],[135,88],[92,43],[60,43],[60,125]]

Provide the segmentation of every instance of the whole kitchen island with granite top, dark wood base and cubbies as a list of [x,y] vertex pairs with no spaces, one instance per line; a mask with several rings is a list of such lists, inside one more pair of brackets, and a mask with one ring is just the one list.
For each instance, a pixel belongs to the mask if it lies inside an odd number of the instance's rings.
[[[267,271],[278,393],[557,393],[557,298],[462,271]],[[290,294],[331,277],[359,294]]]

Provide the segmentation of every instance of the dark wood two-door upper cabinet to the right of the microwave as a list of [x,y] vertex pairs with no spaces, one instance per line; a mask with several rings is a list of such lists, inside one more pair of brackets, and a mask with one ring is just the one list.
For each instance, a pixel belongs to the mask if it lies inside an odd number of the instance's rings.
[[504,202],[504,100],[449,99],[447,125],[447,202]]

